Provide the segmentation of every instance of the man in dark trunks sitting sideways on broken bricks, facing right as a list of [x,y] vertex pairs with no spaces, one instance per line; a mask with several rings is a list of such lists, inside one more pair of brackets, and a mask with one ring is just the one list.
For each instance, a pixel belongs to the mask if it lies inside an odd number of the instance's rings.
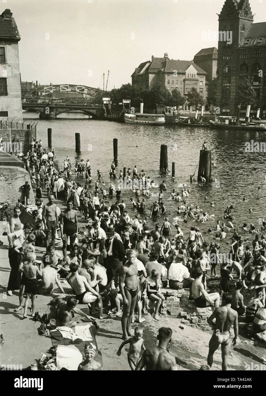
[[219,293],[207,293],[204,289],[204,285],[202,284],[202,276],[203,271],[200,267],[194,270],[194,276],[196,277],[193,280],[191,285],[191,292],[194,298],[196,307],[198,308],[206,308],[210,305],[214,305],[214,308],[219,307],[220,296]]

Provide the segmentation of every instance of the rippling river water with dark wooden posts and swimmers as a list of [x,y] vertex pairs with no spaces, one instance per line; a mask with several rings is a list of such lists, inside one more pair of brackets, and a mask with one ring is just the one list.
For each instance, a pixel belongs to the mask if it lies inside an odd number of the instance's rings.
[[[24,113],[25,120],[38,119],[38,113]],[[143,126],[131,125],[114,121],[100,121],[89,119],[88,116],[81,113],[60,114],[57,120],[40,120],[37,125],[37,139],[42,139],[43,147],[47,147],[47,128],[52,128],[52,144],[55,147],[59,166],[62,161],[69,155],[72,164],[75,160],[83,158],[85,161],[89,158],[92,168],[92,186],[96,181],[97,169],[103,173],[103,180],[108,190],[110,182],[108,169],[113,161],[113,138],[118,139],[118,169],[131,170],[137,165],[138,173],[143,169],[146,175],[160,183],[166,179],[168,192],[164,193],[164,202],[166,214],[169,215],[170,221],[174,218],[173,205],[177,204],[168,201],[168,196],[172,188],[176,188],[178,183],[185,183],[191,188],[191,194],[187,198],[187,205],[192,208],[198,204],[200,209],[214,214],[215,217],[206,223],[193,223],[199,225],[204,239],[211,242],[214,239],[214,230],[217,219],[223,221],[222,216],[227,205],[234,204],[232,210],[234,215],[234,225],[239,229],[244,222],[249,225],[253,223],[258,228],[258,219],[266,217],[266,176],[265,171],[265,153],[246,153],[244,151],[245,142],[266,141],[264,132],[257,131],[230,131],[223,129],[201,129],[201,128],[181,128],[175,125],[163,126]],[[81,153],[75,153],[75,132],[80,133]],[[208,148],[211,149],[212,155],[212,176],[217,179],[217,183],[211,183],[204,187],[198,187],[198,183],[190,183],[189,175],[194,173],[198,165],[200,149],[204,140],[208,142]],[[172,169],[172,161],[175,162],[175,180],[172,180],[171,173],[167,177],[159,174],[160,162],[160,145],[168,145],[168,167]],[[91,146],[89,146],[91,145]],[[92,150],[88,150],[92,148]],[[195,177],[197,176],[197,171]],[[73,178],[74,178],[73,173]],[[81,183],[85,184],[85,178]],[[115,185],[117,186],[118,180]],[[260,187],[260,190],[258,190]],[[152,204],[158,196],[158,188],[151,189],[151,198],[146,198],[146,204]],[[101,194],[99,194],[101,195]],[[247,201],[243,202],[243,197]],[[133,197],[129,190],[123,191],[126,208],[130,209],[131,204],[128,201]],[[114,201],[115,197],[111,201]],[[211,207],[210,203],[214,201],[215,206]],[[249,208],[254,213],[249,213]],[[150,211],[146,211],[150,215]],[[257,212],[257,213],[255,213]],[[131,212],[134,216],[134,212]],[[131,217],[132,217],[131,215]],[[159,218],[159,223],[162,223]],[[154,227],[153,221],[149,220],[150,229]],[[189,228],[192,221],[187,224],[180,223],[184,231],[184,237],[187,239]],[[211,227],[213,232],[207,235],[208,228]],[[172,227],[174,228],[174,227]],[[242,232],[245,238],[249,237],[251,243],[253,237],[248,232]],[[245,238],[245,239],[246,239]],[[230,232],[227,233],[226,240],[230,239]],[[246,243],[244,243],[246,244]],[[221,241],[221,252],[229,252],[225,241]]]

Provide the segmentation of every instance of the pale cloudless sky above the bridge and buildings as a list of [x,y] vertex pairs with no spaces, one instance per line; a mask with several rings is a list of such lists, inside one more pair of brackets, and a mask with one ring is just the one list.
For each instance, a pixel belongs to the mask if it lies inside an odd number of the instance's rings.
[[[202,32],[218,30],[225,0],[2,1],[21,35],[22,81],[102,88],[109,70],[109,90],[131,82],[152,55],[190,61],[200,49],[217,47],[202,41]],[[266,0],[249,4],[254,22],[266,21]]]

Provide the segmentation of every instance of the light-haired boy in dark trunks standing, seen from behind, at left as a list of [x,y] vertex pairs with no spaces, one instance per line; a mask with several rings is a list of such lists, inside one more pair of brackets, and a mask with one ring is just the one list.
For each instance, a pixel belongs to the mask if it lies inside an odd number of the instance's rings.
[[26,256],[26,260],[24,263],[20,263],[19,265],[19,272],[24,272],[25,274],[25,305],[24,305],[24,314],[23,318],[27,318],[27,310],[28,310],[28,303],[31,298],[32,304],[32,316],[35,315],[35,300],[37,294],[37,279],[36,274],[42,276],[42,268],[41,268],[41,261],[37,264],[36,262],[36,254],[35,253],[28,253]]

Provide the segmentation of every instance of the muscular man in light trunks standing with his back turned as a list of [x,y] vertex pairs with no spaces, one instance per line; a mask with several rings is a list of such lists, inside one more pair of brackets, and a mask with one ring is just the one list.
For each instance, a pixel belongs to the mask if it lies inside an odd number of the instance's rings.
[[238,338],[238,313],[231,308],[232,295],[228,292],[223,293],[222,307],[217,307],[208,318],[208,324],[213,325],[215,321],[215,330],[209,341],[208,365],[213,364],[213,354],[221,345],[222,350],[222,370],[227,370],[227,357],[231,347],[229,330],[234,324],[233,345],[236,345]]

